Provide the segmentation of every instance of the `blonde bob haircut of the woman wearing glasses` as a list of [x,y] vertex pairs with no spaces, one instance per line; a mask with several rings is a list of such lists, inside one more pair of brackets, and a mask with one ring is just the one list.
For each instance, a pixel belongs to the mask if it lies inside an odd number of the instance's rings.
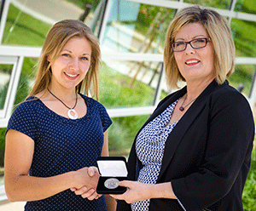
[[177,32],[189,23],[199,23],[205,28],[214,48],[214,67],[216,82],[224,83],[227,77],[235,71],[236,48],[230,30],[229,22],[217,12],[211,9],[201,9],[192,6],[181,9],[171,21],[166,32],[166,44],[164,51],[164,64],[166,80],[171,88],[178,88],[179,81],[185,81],[178,70],[177,62],[171,44]]

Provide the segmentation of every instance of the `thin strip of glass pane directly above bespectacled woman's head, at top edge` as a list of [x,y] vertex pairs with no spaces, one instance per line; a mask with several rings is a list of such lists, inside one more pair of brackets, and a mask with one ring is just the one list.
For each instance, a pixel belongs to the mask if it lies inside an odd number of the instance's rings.
[[218,9],[229,9],[230,0],[184,0],[184,3],[195,3],[204,7],[212,7]]

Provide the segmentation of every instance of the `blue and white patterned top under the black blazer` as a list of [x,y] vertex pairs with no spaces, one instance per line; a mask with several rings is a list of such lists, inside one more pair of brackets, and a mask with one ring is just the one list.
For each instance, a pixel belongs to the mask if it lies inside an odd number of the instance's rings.
[[[143,163],[137,181],[143,184],[155,184],[160,174],[162,158],[164,156],[166,139],[176,123],[166,126],[172,117],[172,111],[177,104],[176,100],[168,106],[158,117],[155,117],[138,134],[136,152],[138,159]],[[132,211],[147,211],[150,200],[131,203]]]

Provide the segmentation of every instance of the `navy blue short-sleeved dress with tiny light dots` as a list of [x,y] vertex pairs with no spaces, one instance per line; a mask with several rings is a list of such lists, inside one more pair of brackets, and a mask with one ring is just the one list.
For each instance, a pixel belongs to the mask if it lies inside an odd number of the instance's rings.
[[[103,133],[112,121],[104,106],[80,94],[87,105],[87,114],[72,120],[49,110],[41,100],[29,97],[9,119],[9,129],[28,135],[35,142],[29,174],[50,177],[96,166],[104,142]],[[105,211],[105,197],[90,201],[69,189],[44,200],[27,202],[25,210],[98,210]]]

